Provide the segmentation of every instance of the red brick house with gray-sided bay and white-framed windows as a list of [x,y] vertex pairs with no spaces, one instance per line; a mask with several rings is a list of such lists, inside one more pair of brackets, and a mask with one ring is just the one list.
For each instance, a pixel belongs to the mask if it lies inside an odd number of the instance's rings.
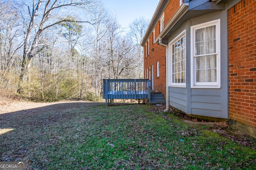
[[256,1],[160,0],[144,77],[166,104],[256,136]]

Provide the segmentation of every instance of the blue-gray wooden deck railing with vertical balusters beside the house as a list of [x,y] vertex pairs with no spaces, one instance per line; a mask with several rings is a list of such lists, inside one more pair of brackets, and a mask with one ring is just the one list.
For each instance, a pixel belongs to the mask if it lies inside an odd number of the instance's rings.
[[106,106],[111,99],[148,99],[150,104],[150,91],[148,79],[103,79]]

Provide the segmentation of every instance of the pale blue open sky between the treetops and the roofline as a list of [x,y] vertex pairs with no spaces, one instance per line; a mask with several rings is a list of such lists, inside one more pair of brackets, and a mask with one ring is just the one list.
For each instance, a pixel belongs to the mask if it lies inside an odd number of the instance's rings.
[[136,18],[151,20],[160,0],[102,0],[105,8],[116,16],[122,27],[128,27]]

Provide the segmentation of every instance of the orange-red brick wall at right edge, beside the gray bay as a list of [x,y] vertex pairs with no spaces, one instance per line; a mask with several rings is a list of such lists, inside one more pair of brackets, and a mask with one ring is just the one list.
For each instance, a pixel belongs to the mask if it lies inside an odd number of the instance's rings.
[[228,10],[229,116],[256,127],[256,1]]

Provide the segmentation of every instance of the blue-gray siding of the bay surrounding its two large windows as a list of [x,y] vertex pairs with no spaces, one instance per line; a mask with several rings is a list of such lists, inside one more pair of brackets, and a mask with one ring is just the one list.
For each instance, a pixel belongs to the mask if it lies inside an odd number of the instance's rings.
[[[221,25],[221,88],[190,87],[190,26],[220,18]],[[228,20],[227,10],[186,21],[168,39],[172,41],[186,29],[186,88],[169,87],[169,104],[188,114],[228,119]]]

